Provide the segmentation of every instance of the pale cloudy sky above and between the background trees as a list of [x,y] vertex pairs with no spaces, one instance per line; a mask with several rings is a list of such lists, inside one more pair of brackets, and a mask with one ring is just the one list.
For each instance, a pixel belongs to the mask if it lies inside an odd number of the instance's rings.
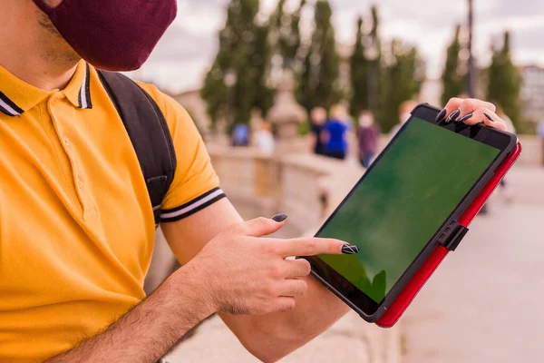
[[[287,5],[296,6],[299,0]],[[492,39],[510,30],[516,64],[544,66],[544,2],[536,0],[473,0],[474,50],[480,65],[489,64]],[[310,1],[311,3],[312,1]],[[466,23],[467,0],[330,0],[336,41],[353,44],[356,19],[368,18],[378,6],[384,40],[402,39],[418,47],[427,63],[427,76],[442,72],[445,49],[456,24]],[[225,22],[228,0],[178,0],[178,16],[134,78],[153,82],[170,93],[199,88],[217,52],[218,32]],[[261,0],[261,17],[277,0]],[[303,32],[311,31],[311,10]]]

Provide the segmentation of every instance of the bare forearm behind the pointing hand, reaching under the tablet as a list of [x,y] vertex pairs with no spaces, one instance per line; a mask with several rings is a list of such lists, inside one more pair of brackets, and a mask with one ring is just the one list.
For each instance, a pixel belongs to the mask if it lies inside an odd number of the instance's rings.
[[[314,278],[306,277],[308,291],[291,311],[252,317],[221,316],[246,348],[265,362],[275,362],[316,338],[349,311],[342,300]],[[233,319],[244,319],[243,323]],[[233,323],[229,323],[233,322]]]

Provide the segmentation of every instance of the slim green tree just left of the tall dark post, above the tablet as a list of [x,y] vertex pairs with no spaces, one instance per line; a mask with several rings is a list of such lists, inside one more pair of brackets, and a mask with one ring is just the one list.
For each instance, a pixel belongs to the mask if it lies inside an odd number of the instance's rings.
[[460,32],[461,25],[457,25],[452,43],[446,51],[446,64],[442,72],[442,104],[448,103],[450,98],[459,96],[466,89],[466,66],[462,64],[459,56],[462,49],[459,40]]

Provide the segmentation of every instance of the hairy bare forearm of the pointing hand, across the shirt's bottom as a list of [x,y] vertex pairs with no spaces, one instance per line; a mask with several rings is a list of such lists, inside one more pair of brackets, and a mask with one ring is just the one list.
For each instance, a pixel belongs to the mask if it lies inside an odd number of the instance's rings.
[[47,362],[156,362],[213,312],[191,270],[178,270],[110,328]]

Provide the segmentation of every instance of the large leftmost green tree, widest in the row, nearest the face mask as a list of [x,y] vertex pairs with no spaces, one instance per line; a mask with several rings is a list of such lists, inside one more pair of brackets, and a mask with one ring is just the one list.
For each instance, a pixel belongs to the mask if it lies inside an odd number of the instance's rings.
[[[258,9],[259,0],[231,0],[228,5],[219,51],[201,90],[214,123],[221,117],[227,118],[229,126],[248,123],[253,109],[266,113],[271,104],[268,25],[257,24]],[[227,74],[234,74],[234,84],[225,84]]]

